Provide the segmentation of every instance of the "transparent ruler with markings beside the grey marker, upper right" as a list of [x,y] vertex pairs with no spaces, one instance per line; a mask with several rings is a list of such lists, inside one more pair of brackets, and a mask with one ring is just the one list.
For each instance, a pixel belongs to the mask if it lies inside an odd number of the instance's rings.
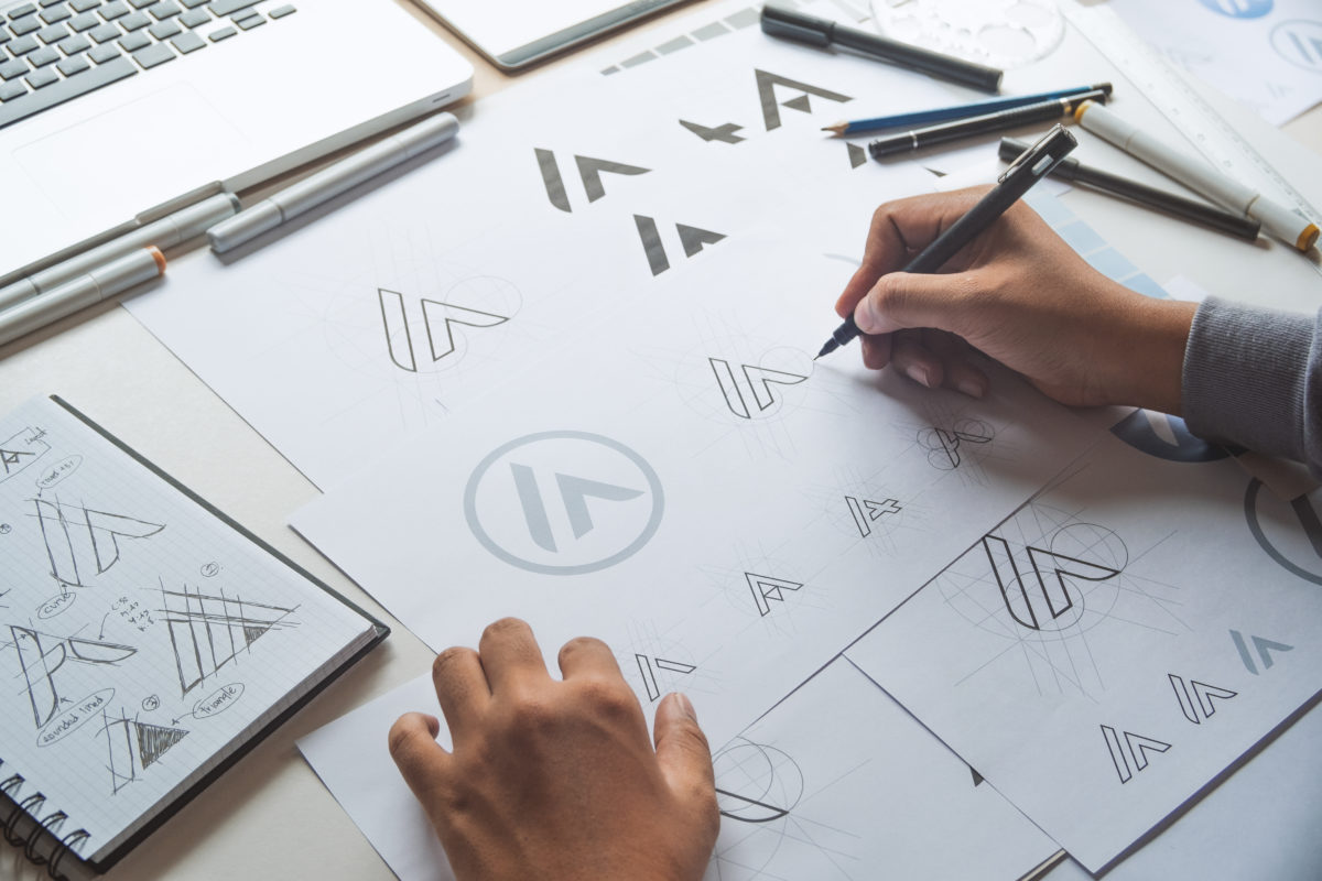
[[[1133,81],[1194,151],[1228,177],[1294,207],[1310,221],[1322,221],[1309,199],[1114,12],[1105,7],[1084,9],[1072,1],[1062,3],[1060,11],[1088,42]],[[1322,265],[1311,263],[1322,273]]]

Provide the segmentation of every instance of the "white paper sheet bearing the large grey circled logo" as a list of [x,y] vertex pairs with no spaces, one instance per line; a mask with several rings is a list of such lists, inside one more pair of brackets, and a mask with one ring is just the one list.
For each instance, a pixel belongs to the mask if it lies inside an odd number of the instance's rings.
[[645,703],[682,687],[735,734],[1093,436],[1003,372],[974,402],[814,363],[805,292],[853,264],[800,244],[723,243],[295,528],[436,650],[506,614],[550,658],[598,635]]

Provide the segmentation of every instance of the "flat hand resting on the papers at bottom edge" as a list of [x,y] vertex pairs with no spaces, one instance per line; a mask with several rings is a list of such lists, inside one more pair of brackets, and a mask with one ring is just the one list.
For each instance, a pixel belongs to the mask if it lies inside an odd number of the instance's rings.
[[440,721],[406,713],[390,754],[451,868],[473,878],[701,878],[719,831],[711,752],[689,700],[657,707],[656,749],[609,647],[579,638],[551,679],[517,618],[432,664]]

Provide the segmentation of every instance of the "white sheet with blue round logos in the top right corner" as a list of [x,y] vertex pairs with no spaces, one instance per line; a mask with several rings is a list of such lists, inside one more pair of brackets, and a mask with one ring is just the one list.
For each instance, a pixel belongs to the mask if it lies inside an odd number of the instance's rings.
[[1109,0],[1171,62],[1280,125],[1322,100],[1322,11],[1313,0]]

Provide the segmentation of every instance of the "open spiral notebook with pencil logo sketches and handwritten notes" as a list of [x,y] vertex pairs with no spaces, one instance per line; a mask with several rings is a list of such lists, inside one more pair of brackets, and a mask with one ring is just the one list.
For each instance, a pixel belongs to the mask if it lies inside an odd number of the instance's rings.
[[0,826],[102,872],[387,629],[58,398],[0,417]]

